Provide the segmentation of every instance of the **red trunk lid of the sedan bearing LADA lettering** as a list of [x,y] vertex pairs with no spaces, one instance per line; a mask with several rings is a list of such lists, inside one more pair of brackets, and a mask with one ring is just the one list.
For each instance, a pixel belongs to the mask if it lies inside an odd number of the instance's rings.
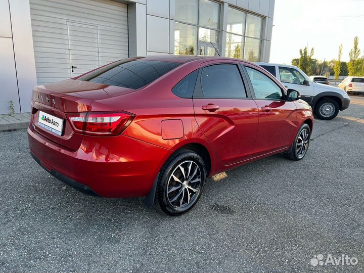
[[[34,87],[32,95],[34,102],[32,108],[33,129],[48,140],[76,151],[82,143],[83,135],[73,131],[66,114],[92,111],[91,104],[93,101],[126,92],[130,92],[130,89],[72,79],[38,85]],[[51,120],[52,116],[62,120],[62,132],[60,134],[51,131],[49,126],[44,126],[41,121],[44,113],[46,116],[47,114],[50,115]],[[57,119],[57,121],[59,120]]]

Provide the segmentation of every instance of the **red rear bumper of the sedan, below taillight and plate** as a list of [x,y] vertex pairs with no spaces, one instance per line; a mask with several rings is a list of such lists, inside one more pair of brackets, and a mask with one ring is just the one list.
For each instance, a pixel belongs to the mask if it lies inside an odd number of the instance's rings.
[[146,196],[171,150],[128,136],[84,136],[68,150],[28,128],[30,152],[53,176],[77,190],[102,197]]

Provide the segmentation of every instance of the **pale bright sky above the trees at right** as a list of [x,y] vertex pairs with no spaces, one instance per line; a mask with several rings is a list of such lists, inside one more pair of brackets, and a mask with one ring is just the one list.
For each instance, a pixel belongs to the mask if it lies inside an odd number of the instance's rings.
[[299,50],[314,48],[313,58],[349,60],[354,37],[364,53],[364,0],[276,0],[270,62],[291,64]]

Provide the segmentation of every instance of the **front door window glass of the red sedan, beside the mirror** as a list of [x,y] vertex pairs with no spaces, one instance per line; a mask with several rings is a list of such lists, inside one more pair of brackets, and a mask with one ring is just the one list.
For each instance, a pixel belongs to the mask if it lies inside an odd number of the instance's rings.
[[253,84],[255,98],[257,99],[282,99],[281,88],[263,73],[246,67],[249,78]]

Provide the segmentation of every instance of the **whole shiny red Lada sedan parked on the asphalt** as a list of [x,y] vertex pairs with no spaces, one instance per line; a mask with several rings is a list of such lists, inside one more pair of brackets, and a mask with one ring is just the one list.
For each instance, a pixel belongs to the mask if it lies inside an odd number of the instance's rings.
[[302,159],[313,115],[299,98],[242,60],[124,59],[34,87],[29,147],[84,193],[139,196],[180,215],[208,176],[281,152]]

